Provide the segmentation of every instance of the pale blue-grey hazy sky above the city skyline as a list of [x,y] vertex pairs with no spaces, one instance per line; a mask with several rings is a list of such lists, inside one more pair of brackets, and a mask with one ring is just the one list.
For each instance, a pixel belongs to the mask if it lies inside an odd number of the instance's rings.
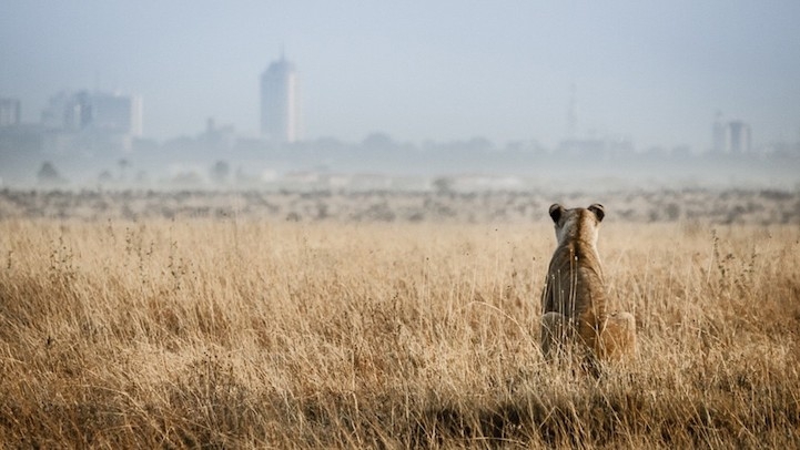
[[756,144],[800,134],[800,1],[0,0],[0,95],[38,121],[59,90],[136,93],[144,133],[209,116],[255,135],[259,76],[285,49],[307,139],[386,132],[554,145],[710,145],[716,111]]

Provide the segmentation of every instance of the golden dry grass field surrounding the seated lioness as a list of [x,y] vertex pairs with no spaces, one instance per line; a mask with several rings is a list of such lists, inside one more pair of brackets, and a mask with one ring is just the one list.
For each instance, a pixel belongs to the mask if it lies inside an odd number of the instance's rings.
[[638,333],[637,358],[598,377],[539,352],[546,198],[512,219],[347,221],[335,195],[320,219],[39,214],[13,195],[3,448],[800,444],[800,222],[759,213],[769,195],[719,213],[747,223],[587,197],[606,205],[611,308]]

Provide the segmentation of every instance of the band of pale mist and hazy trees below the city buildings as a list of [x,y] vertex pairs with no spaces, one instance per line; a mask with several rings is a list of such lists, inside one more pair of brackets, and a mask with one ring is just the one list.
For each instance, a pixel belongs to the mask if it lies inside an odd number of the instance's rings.
[[531,149],[425,149],[368,143],[294,144],[281,149],[134,150],[6,153],[2,186],[60,190],[433,191],[449,180],[463,191],[598,192],[656,188],[800,186],[800,152],[687,155],[632,152],[559,154]]

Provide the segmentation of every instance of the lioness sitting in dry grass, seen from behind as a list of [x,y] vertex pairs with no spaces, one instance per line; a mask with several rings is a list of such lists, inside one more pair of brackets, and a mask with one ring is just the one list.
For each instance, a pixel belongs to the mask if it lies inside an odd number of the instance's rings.
[[597,253],[602,205],[549,209],[558,246],[541,295],[541,351],[547,359],[566,344],[583,347],[591,360],[619,360],[636,351],[636,319],[608,313],[608,294]]

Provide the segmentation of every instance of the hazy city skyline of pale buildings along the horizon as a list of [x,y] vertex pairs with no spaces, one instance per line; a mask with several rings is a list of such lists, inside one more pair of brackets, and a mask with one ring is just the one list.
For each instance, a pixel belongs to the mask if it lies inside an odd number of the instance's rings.
[[[270,145],[303,142],[300,78],[295,64],[287,60],[285,52],[282,51],[280,58],[273,60],[266,70],[262,72],[260,80],[260,137]],[[19,99],[0,98],[0,126],[41,125],[42,131],[50,130],[68,134],[84,129],[94,133],[104,132],[108,134],[110,132],[126,139],[123,147],[129,150],[131,149],[131,137],[146,137],[142,131],[142,99],[136,94],[89,91],[85,89],[75,92],[61,91],[50,96],[48,106],[42,110],[40,121],[29,124],[21,122],[21,102]],[[742,154],[764,150],[768,152],[770,150],[782,151],[787,145],[800,144],[799,133],[797,142],[780,141],[776,142],[774,146],[756,149],[752,146],[752,130],[749,123],[738,119],[726,119],[721,111],[717,111],[710,127],[711,144],[707,149],[697,150],[688,145],[666,149],[664,145],[658,144],[644,149],[637,147],[635,142],[625,136],[620,137],[620,135],[597,134],[596,132],[584,135],[577,134],[578,116],[576,110],[576,92],[573,84],[567,109],[566,133],[561,140],[556,145],[546,147],[541,146],[534,137],[528,145],[533,143],[539,150],[575,155],[602,154],[609,151],[622,153],[675,151],[680,154],[688,154],[687,152]],[[233,125],[224,125],[223,129],[217,130],[215,123],[215,117],[209,116],[205,120],[205,131],[200,134],[192,134],[199,136],[205,134],[207,136],[209,133],[224,132],[226,134],[225,139],[231,143],[230,145],[233,145],[232,143],[236,139],[249,139],[247,136],[237,135]],[[166,141],[180,137],[170,136]],[[331,139],[336,140],[332,136],[322,137],[322,140]],[[375,139],[393,141],[393,136],[385,132],[373,132],[364,137],[365,142]],[[453,143],[460,142],[465,146],[469,146],[472,145],[470,142],[485,140],[485,136],[473,136],[470,140],[456,140]],[[397,144],[397,142],[392,143],[392,145]],[[498,145],[498,143],[492,143],[490,141],[486,141],[486,144]],[[509,147],[518,147],[523,142],[516,141],[505,144],[509,145]],[[406,143],[405,145],[415,146],[416,144]],[[65,146],[60,145],[59,149],[64,150]]]

